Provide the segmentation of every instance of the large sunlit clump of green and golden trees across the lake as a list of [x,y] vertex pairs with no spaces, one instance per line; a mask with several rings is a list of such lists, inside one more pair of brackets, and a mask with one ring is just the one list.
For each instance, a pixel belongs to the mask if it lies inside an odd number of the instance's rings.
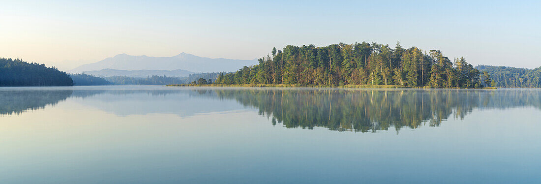
[[287,45],[273,48],[272,56],[235,73],[221,73],[216,84],[346,84],[397,85],[432,88],[481,88],[490,86],[489,74],[467,63],[451,61],[440,50],[428,53],[412,47],[394,48],[378,43],[332,44],[315,47]]

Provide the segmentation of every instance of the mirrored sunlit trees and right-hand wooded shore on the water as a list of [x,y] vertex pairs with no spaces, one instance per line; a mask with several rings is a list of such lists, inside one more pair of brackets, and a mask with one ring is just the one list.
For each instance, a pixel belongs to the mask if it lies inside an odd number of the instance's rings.
[[[204,91],[204,90],[203,90]],[[234,98],[272,123],[287,128],[375,132],[394,127],[439,126],[449,117],[463,119],[473,109],[541,108],[539,90],[214,90]]]

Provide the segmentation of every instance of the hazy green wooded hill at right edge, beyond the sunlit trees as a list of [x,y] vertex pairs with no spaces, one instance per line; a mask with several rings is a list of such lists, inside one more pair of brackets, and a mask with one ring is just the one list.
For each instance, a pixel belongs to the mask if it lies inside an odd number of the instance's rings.
[[478,65],[481,71],[486,71],[494,80],[496,87],[501,88],[541,88],[541,67],[536,69],[495,67]]

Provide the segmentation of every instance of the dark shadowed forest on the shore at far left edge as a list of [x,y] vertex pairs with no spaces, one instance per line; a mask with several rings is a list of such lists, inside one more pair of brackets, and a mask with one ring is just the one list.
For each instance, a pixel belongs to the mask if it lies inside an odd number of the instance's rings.
[[73,81],[55,67],[0,58],[0,86],[73,86]]

